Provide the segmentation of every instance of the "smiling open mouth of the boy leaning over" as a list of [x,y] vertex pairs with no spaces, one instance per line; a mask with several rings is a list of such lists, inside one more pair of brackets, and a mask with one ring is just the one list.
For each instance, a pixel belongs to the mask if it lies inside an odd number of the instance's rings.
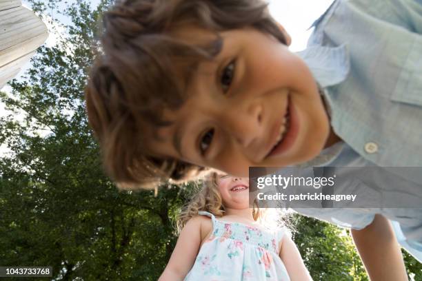
[[292,106],[292,101],[289,94],[288,105],[285,110],[283,119],[281,120],[281,125],[277,128],[277,134],[272,136],[272,146],[270,152],[268,152],[265,158],[282,154],[290,147],[292,147],[299,131],[299,124],[297,119],[297,113]]

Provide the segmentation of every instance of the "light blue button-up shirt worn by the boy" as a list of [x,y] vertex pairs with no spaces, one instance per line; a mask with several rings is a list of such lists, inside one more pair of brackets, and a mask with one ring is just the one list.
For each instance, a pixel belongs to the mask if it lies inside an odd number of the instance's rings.
[[[310,165],[422,167],[422,1],[337,0],[313,26],[298,54],[324,88],[332,128],[344,143]],[[422,209],[298,211],[355,229],[383,214],[422,261]]]

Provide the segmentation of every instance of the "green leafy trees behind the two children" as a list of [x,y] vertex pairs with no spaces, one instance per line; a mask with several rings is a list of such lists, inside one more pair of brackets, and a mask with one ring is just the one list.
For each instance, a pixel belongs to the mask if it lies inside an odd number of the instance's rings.
[[[177,240],[174,217],[193,188],[163,187],[157,197],[119,192],[103,174],[83,87],[97,22],[111,1],[95,10],[81,0],[65,10],[52,0],[30,2],[71,23],[57,45],[37,50],[11,94],[0,92],[9,112],[0,118],[8,149],[0,158],[0,265],[52,266],[54,280],[157,280]],[[315,280],[365,280],[341,229],[301,216],[293,225]],[[420,277],[421,264],[405,258]]]

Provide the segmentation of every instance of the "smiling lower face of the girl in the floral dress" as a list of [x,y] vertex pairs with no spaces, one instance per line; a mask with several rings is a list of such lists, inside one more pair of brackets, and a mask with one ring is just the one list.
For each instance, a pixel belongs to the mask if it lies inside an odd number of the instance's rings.
[[217,184],[225,208],[246,209],[249,207],[248,178],[219,175]]

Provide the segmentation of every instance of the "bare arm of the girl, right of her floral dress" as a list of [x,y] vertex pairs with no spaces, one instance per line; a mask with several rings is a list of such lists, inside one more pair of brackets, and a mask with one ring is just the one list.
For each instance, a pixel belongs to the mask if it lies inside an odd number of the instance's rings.
[[312,280],[308,269],[303,263],[301,253],[288,235],[284,235],[281,239],[280,258],[283,260],[285,269],[288,271],[290,280],[307,281]]

